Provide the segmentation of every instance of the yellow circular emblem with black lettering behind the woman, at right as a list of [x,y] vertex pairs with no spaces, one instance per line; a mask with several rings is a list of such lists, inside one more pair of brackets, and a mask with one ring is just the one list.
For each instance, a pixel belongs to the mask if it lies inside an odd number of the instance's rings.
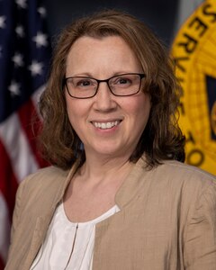
[[186,163],[216,175],[216,1],[204,1],[187,19],[171,55],[183,87],[179,124]]

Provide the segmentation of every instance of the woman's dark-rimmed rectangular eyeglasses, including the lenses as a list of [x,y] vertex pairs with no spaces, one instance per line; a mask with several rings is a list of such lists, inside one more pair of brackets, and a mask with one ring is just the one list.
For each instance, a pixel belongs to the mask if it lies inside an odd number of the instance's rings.
[[126,73],[98,80],[89,76],[70,76],[63,80],[67,93],[75,98],[91,98],[97,94],[100,83],[106,83],[112,94],[128,96],[139,93],[141,79],[145,74]]

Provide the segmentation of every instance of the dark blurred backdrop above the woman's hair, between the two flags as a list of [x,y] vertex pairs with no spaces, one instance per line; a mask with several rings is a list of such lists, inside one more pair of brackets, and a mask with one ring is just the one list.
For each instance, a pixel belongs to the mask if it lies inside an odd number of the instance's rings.
[[93,13],[103,8],[115,8],[130,12],[148,23],[148,26],[169,44],[177,23],[178,2],[178,0],[45,0],[45,5],[51,36],[57,34],[62,27],[80,15]]

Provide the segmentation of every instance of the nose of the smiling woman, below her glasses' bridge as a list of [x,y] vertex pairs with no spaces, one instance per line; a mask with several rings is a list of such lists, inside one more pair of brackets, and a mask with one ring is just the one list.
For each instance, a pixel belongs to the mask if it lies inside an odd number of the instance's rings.
[[107,82],[101,82],[97,94],[94,96],[94,109],[102,112],[109,112],[116,108],[115,96],[111,93]]

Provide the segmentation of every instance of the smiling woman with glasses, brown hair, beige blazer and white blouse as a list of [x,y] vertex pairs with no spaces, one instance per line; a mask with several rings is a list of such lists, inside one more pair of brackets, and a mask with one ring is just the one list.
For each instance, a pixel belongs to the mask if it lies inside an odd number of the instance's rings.
[[215,269],[216,182],[183,164],[180,94],[134,17],[69,25],[40,99],[53,166],[20,185],[5,269]]

